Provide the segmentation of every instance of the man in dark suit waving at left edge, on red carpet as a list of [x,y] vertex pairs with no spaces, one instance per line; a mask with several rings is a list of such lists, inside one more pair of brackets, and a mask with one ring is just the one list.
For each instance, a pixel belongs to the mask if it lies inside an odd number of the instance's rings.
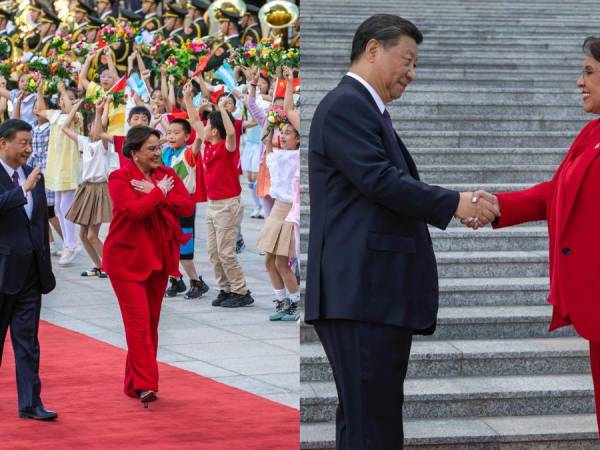
[[38,326],[41,296],[56,285],[50,263],[48,206],[31,156],[31,126],[0,124],[0,364],[6,331],[15,353],[19,416],[52,420],[40,398]]

